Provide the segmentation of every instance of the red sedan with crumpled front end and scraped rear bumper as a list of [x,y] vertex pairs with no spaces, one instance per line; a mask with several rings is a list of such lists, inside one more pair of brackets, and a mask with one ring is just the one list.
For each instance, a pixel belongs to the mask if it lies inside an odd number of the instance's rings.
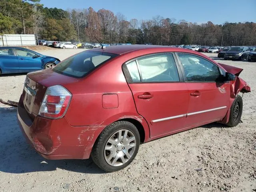
[[198,52],[123,45],[80,52],[29,73],[18,105],[28,142],[47,159],[87,159],[113,172],[139,146],[211,122],[236,126],[242,69]]

